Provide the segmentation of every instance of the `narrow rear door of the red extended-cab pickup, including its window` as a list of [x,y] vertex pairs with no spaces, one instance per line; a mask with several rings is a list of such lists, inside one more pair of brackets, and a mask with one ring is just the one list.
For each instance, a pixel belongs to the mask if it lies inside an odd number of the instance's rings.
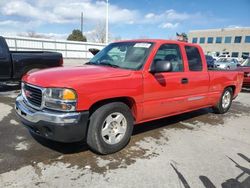
[[201,48],[185,45],[186,60],[189,71],[186,74],[185,91],[189,109],[196,109],[209,104],[209,75],[206,63],[201,58]]

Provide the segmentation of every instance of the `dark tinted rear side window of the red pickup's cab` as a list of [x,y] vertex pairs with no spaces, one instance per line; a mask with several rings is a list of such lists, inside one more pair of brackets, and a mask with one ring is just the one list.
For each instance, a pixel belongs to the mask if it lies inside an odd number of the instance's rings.
[[202,71],[202,61],[198,48],[185,46],[190,71]]

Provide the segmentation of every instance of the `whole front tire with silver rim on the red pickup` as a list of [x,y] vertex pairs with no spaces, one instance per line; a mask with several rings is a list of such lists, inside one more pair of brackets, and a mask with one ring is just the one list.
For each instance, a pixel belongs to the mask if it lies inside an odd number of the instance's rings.
[[87,144],[100,154],[115,153],[128,144],[133,123],[133,116],[126,104],[122,102],[105,104],[90,116]]

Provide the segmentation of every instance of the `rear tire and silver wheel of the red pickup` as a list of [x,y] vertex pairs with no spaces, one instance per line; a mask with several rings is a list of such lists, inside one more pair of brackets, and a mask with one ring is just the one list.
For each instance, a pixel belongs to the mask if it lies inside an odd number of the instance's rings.
[[231,107],[232,100],[233,100],[233,89],[231,87],[228,87],[223,91],[218,104],[215,107],[213,107],[214,112],[216,114],[226,113]]

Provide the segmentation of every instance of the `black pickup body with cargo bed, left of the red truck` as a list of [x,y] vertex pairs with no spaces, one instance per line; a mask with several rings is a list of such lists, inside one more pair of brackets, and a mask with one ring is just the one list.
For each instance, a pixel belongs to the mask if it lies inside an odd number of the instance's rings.
[[61,53],[43,51],[10,51],[0,36],[0,81],[19,81],[29,71],[63,65]]

